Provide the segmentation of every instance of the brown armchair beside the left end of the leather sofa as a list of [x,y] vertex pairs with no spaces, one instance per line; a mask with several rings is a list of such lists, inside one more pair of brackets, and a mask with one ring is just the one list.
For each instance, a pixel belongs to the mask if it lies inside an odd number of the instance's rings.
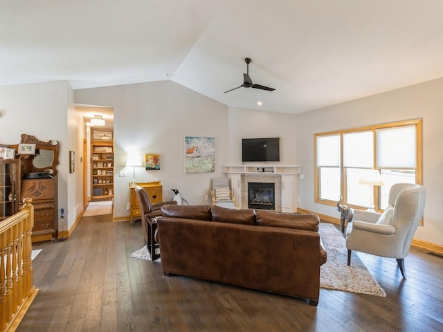
[[151,259],[155,261],[160,257],[159,243],[155,240],[157,230],[156,216],[161,216],[161,207],[165,204],[177,204],[176,201],[165,201],[160,203],[151,203],[150,196],[145,188],[136,185],[136,196],[140,207],[141,224],[143,226],[147,250],[149,250]]

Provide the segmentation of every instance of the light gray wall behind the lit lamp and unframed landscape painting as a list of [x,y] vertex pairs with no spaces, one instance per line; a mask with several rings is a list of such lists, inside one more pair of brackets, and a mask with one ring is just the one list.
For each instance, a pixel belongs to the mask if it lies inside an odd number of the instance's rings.
[[[210,179],[223,173],[228,151],[228,108],[172,81],[128,84],[74,91],[75,102],[114,108],[114,217],[128,216],[129,151],[160,154],[161,169],[136,167],[136,181],[161,181],[163,200],[178,189],[190,204],[209,204]],[[184,137],[215,138],[215,173],[184,173]],[[127,177],[119,177],[120,170]]]

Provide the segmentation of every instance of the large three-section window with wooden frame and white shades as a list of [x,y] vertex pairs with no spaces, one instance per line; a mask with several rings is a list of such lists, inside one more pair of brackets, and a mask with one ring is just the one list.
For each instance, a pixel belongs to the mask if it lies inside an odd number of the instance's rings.
[[[422,120],[345,129],[314,135],[315,200],[353,208],[376,210],[388,205],[395,183],[422,183]],[[383,186],[361,185],[372,169],[379,170]]]

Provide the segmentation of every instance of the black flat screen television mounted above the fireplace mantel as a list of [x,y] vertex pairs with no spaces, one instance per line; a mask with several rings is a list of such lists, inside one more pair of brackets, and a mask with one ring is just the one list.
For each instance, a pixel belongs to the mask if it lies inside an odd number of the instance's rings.
[[243,138],[242,161],[280,161],[280,138]]

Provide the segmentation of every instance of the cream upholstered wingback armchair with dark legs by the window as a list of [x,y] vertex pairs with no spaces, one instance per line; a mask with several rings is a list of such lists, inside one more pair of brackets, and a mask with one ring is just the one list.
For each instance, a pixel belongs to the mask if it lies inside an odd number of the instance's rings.
[[389,205],[383,214],[354,210],[354,221],[347,225],[347,265],[352,250],[397,259],[401,275],[407,278],[404,258],[424,212],[422,185],[397,183],[389,192]]

